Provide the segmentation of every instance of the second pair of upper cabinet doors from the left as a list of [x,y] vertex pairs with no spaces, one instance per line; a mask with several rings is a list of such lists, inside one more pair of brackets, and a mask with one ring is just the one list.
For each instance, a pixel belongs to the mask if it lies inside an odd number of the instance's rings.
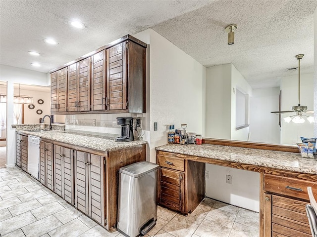
[[68,66],[67,111],[90,110],[91,58]]

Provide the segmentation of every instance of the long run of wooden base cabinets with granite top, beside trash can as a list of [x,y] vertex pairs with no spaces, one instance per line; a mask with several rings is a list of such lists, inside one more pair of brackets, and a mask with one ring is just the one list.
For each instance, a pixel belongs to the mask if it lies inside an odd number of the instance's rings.
[[17,128],[17,165],[19,156],[27,154],[27,136],[40,137],[40,182],[106,230],[115,230],[119,168],[146,160],[147,142],[118,143],[115,134],[37,129]]

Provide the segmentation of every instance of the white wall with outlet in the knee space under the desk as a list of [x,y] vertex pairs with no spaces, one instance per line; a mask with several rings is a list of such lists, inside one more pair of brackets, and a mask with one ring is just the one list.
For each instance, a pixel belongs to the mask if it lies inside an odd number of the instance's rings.
[[[260,173],[219,165],[206,166],[209,166],[209,179],[206,179],[207,197],[259,211]],[[226,183],[226,175],[231,175],[232,184]]]

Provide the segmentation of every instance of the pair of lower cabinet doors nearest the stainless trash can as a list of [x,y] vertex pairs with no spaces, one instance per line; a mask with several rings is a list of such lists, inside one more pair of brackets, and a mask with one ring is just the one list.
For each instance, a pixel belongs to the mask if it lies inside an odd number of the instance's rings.
[[75,207],[105,225],[106,157],[75,151]]

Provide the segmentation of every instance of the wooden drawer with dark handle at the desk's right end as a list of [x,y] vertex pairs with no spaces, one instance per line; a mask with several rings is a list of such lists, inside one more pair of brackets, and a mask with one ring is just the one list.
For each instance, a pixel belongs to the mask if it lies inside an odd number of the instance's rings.
[[317,197],[316,182],[279,177],[270,174],[264,175],[264,190],[266,192],[309,200],[307,193],[308,186],[312,187],[314,196]]

